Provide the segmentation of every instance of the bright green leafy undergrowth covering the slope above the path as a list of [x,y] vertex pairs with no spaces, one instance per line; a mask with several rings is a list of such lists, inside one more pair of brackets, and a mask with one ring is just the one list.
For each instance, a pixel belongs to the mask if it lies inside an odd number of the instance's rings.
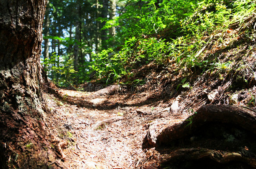
[[72,83],[68,79],[74,78],[83,83],[91,80],[91,74],[106,83],[120,83],[121,78],[133,76],[133,69],[150,62],[173,66],[183,73],[228,72],[237,61],[228,58],[223,62],[214,53],[255,40],[253,1],[163,0],[159,7],[155,0],[133,3],[137,6],[128,5],[114,20],[100,18],[106,21],[104,28],[115,26],[118,32],[110,38],[110,48],[92,53],[83,73],[76,75],[69,62],[52,66],[56,73],[65,74],[64,83]]

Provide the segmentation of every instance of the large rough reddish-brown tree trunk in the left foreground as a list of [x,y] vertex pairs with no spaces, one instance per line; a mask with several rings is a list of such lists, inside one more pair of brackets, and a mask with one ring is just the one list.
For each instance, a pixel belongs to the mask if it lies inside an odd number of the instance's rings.
[[[46,0],[0,1],[0,164],[48,168],[56,155],[42,110],[42,23]],[[44,144],[43,144],[44,143]],[[57,168],[57,163],[52,164]]]

